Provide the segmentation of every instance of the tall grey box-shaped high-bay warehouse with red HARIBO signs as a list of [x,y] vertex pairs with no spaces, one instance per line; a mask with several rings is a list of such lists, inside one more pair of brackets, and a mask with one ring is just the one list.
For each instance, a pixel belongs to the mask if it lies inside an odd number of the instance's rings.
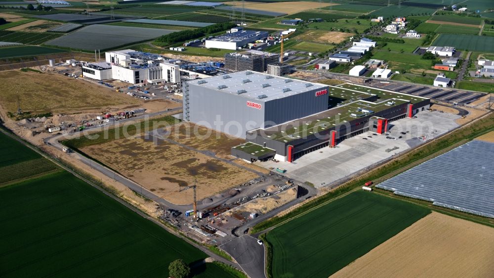
[[240,71],[183,87],[184,119],[239,138],[328,109],[328,86]]

